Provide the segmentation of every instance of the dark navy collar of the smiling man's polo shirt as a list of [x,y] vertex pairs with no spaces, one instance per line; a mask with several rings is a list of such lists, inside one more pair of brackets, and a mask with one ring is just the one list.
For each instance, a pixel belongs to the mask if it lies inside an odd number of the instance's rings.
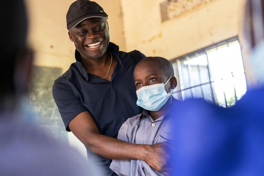
[[[123,69],[124,69],[124,65],[122,64],[121,62],[121,59],[118,57],[118,54],[119,54],[119,46],[112,43],[112,42],[109,42],[109,45],[108,45],[108,50],[112,53],[112,55],[115,56],[115,58],[117,59],[117,62],[116,62],[116,69],[117,70],[114,70],[114,73],[113,74],[118,74],[120,73]],[[76,60],[76,65],[77,65],[77,68],[79,69],[79,71],[82,73],[82,75],[86,78],[86,80],[88,81],[89,80],[89,76],[87,74],[87,71],[86,69],[84,68],[84,66],[82,65],[81,63],[81,54],[75,49],[75,60]],[[115,73],[117,72],[117,73]],[[100,79],[100,78],[99,78]],[[103,81],[103,80],[102,80]]]

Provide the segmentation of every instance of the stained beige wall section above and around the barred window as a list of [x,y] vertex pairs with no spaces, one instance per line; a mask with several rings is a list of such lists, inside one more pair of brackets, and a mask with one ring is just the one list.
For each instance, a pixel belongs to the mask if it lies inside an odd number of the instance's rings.
[[171,60],[238,36],[247,84],[253,84],[241,32],[245,0],[212,0],[164,22],[161,2],[164,0],[121,0],[126,51],[137,49],[147,56]]

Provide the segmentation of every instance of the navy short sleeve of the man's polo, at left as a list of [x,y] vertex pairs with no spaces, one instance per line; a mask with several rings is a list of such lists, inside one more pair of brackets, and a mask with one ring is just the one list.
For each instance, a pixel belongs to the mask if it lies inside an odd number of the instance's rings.
[[70,121],[81,112],[88,111],[88,109],[83,106],[81,99],[78,97],[77,90],[62,80],[55,80],[52,94],[59,108],[65,129],[70,131],[68,127]]

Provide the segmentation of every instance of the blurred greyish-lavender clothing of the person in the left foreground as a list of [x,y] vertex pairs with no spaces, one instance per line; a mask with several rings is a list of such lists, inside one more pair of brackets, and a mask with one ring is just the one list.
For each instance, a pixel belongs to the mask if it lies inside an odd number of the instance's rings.
[[39,127],[28,106],[21,107],[12,112],[0,111],[1,176],[103,175],[102,168]]

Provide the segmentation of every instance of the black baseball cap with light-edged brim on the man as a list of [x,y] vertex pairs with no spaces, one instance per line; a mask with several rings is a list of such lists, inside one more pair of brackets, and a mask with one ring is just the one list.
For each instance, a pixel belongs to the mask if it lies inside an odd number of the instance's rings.
[[92,17],[107,18],[108,15],[96,2],[77,0],[70,5],[67,12],[67,29],[72,29],[83,20]]

